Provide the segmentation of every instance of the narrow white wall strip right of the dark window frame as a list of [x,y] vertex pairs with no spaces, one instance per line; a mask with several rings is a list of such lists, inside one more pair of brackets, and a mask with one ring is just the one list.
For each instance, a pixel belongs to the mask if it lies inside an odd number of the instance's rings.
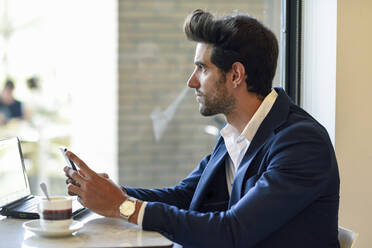
[[337,0],[303,2],[301,105],[335,144]]

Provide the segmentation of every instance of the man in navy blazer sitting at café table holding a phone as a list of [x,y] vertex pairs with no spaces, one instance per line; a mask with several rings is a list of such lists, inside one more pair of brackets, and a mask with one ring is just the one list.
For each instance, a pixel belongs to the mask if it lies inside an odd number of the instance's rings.
[[[185,21],[196,41],[195,89],[204,116],[222,113],[212,154],[177,186],[115,185],[71,152],[68,190],[104,216],[122,217],[184,247],[339,247],[339,176],[326,130],[285,92],[272,89],[278,44],[255,19]],[[134,197],[134,198],[131,198]]]

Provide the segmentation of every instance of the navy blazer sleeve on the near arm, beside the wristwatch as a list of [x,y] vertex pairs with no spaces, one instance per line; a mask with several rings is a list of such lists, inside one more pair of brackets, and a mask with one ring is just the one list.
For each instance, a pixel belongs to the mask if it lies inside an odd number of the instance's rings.
[[200,213],[148,203],[142,228],[191,247],[252,247],[264,240],[320,196],[333,160],[327,138],[314,127],[276,136],[263,161],[266,171],[229,210]]

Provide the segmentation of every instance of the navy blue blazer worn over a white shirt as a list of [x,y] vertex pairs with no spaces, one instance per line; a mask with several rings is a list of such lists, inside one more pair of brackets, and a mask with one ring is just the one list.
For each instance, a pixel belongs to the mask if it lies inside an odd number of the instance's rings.
[[339,247],[339,174],[327,131],[281,88],[241,162],[229,197],[227,150],[177,186],[125,187],[148,201],[143,229],[184,247]]

